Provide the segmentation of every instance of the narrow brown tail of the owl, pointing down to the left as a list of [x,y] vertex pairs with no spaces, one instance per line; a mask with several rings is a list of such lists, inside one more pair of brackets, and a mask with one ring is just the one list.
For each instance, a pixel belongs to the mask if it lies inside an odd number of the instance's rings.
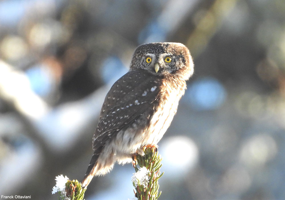
[[90,164],[87,168],[86,174],[85,174],[84,179],[82,181],[82,187],[83,188],[87,187],[89,185],[90,181],[92,180],[93,176],[95,175],[95,173],[97,171],[97,168],[98,168],[97,160],[98,160],[98,157],[99,157],[101,151],[102,151],[102,147],[96,149],[92,155]]

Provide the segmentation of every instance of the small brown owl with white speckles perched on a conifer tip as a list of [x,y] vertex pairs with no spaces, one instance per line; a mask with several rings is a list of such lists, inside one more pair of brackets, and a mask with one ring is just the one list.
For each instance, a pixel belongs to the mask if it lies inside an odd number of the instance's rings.
[[176,114],[194,65],[180,43],[137,47],[128,73],[111,87],[93,136],[94,154],[82,187],[105,175],[115,162],[129,163],[143,147],[156,145]]

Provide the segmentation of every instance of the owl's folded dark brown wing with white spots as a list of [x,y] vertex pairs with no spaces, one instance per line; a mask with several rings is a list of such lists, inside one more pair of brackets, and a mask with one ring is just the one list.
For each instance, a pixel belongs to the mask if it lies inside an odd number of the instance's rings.
[[[129,71],[117,80],[105,97],[93,136],[93,150],[101,147],[141,115],[153,110],[162,80],[144,69]],[[149,118],[149,116],[148,116]],[[146,120],[147,121],[147,120]]]

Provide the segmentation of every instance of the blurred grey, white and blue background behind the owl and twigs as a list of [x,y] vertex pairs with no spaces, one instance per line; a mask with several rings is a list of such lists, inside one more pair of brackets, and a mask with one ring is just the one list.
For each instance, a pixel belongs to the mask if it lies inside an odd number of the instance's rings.
[[[285,199],[283,0],[0,1],[0,195],[82,178],[103,99],[135,48],[171,41],[195,72],[158,143],[160,199]],[[131,199],[115,165],[85,199]]]

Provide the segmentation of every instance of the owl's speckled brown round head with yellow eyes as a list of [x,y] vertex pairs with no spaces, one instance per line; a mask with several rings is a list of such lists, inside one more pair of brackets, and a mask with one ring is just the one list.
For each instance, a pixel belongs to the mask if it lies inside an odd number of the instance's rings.
[[188,80],[194,64],[188,48],[181,43],[157,42],[137,47],[130,70],[145,69],[160,77],[179,76]]

